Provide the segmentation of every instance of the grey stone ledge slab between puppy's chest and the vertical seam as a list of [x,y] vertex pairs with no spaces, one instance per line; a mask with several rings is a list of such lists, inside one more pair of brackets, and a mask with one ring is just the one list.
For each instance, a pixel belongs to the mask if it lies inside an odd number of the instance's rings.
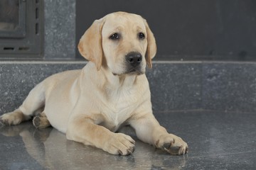
[[155,111],[201,108],[201,63],[159,63],[146,73]]

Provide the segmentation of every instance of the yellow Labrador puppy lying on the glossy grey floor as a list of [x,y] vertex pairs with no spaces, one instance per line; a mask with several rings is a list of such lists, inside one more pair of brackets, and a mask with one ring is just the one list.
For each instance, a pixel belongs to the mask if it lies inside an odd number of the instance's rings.
[[36,128],[52,125],[68,140],[121,155],[131,154],[135,142],[114,132],[130,125],[139,140],[170,154],[186,154],[186,142],[168,133],[152,113],[144,73],[146,65],[152,67],[156,42],[144,18],[110,13],[92,23],[78,49],[90,61],[83,69],[48,77],[1,122],[17,125],[39,113],[33,119]]

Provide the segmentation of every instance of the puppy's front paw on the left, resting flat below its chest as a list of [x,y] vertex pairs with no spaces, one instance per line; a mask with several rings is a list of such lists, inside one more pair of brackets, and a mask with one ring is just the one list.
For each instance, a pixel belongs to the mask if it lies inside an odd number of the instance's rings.
[[129,155],[134,152],[135,141],[123,133],[113,133],[103,149],[110,154]]

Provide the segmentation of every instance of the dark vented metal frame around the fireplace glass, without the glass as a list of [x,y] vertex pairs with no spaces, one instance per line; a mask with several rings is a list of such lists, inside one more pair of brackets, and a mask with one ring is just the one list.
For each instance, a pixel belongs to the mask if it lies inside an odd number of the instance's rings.
[[43,0],[18,0],[18,27],[0,30],[0,60],[41,60],[43,57]]

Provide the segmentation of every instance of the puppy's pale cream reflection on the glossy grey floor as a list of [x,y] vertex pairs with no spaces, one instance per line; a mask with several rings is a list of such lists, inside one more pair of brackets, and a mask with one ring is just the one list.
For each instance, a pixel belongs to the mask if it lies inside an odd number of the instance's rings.
[[0,129],[6,137],[20,135],[28,154],[46,169],[182,169],[186,165],[186,156],[170,156],[137,140],[129,128],[121,131],[136,140],[135,152],[127,157],[113,156],[101,149],[66,140],[65,135],[54,128],[36,129],[31,123],[21,123]]

